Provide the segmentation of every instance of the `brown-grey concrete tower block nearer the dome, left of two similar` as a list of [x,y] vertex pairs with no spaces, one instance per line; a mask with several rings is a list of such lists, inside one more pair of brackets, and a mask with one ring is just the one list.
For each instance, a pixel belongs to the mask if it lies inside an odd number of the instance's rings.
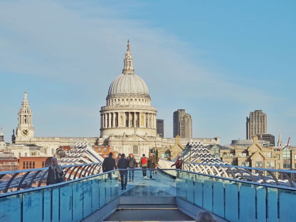
[[185,110],[177,110],[173,114],[173,137],[177,135],[181,138],[192,137],[192,119]]

